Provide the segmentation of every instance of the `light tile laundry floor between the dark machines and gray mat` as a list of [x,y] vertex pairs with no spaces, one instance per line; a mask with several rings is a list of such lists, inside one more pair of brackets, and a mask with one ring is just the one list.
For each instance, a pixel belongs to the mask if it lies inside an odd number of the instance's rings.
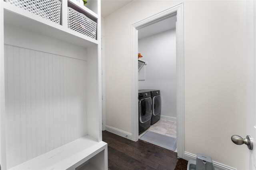
[[[176,121],[160,119],[154,125],[151,125],[146,131],[152,131],[152,132],[160,133],[162,135],[176,138]],[[146,133],[146,131],[141,133],[139,135],[139,138],[144,133]]]

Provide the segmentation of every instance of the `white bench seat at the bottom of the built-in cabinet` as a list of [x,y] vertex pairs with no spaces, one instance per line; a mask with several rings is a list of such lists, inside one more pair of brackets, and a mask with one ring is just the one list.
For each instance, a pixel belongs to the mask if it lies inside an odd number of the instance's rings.
[[[105,142],[95,141],[87,135],[14,166],[10,170],[74,170],[106,148]],[[88,166],[92,165],[88,164]]]

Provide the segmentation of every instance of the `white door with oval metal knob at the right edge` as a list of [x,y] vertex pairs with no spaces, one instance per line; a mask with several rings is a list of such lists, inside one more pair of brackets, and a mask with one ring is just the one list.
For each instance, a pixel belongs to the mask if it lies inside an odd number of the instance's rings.
[[246,149],[246,170],[256,170],[256,1],[246,2],[247,28],[247,120],[246,135],[253,149]]

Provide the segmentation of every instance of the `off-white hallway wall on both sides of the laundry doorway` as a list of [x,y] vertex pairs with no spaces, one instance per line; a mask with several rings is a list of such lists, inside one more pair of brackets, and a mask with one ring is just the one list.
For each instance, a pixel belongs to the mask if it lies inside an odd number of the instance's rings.
[[245,169],[246,2],[133,1],[105,18],[106,125],[132,132],[131,25],[184,2],[185,151]]

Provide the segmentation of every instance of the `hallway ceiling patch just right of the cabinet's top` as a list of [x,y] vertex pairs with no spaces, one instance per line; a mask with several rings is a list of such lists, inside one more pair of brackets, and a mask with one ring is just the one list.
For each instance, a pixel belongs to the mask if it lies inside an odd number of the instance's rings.
[[130,2],[132,0],[101,0],[101,16],[106,17]]

